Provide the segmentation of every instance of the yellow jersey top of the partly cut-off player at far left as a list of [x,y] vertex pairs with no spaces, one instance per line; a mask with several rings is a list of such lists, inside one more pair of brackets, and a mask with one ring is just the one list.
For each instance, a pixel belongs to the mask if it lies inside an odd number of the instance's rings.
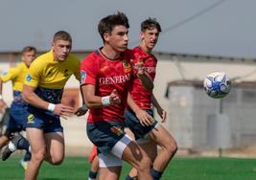
[[23,89],[24,79],[29,71],[29,68],[24,62],[20,62],[17,66],[11,68],[7,73],[4,73],[0,78],[3,82],[12,80],[13,91],[21,92]]

